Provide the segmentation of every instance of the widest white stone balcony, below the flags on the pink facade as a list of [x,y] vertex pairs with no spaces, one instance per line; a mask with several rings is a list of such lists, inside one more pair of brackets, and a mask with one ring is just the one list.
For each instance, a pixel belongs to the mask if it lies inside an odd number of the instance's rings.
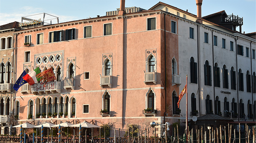
[[51,93],[61,93],[61,82],[60,81],[51,81],[44,83],[35,83],[31,86],[31,92],[39,93],[40,95],[44,92],[45,94]]

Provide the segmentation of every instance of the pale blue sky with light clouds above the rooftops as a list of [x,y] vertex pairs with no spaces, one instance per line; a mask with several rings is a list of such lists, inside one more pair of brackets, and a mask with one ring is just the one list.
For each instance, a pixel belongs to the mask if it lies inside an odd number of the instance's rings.
[[[126,0],[125,7],[136,6],[148,10],[158,2],[159,0]],[[161,2],[197,14],[195,0],[161,0]],[[120,0],[0,0],[0,25],[14,21],[21,22],[22,16],[38,13],[57,16],[60,23],[82,20],[97,15],[104,16],[106,11],[114,11],[119,7]],[[222,10],[228,15],[233,13],[243,17],[242,32],[256,32],[256,0],[203,0],[202,2],[202,16]],[[35,18],[42,20],[42,17],[41,14],[36,15]],[[55,23],[54,20],[52,21]]]

